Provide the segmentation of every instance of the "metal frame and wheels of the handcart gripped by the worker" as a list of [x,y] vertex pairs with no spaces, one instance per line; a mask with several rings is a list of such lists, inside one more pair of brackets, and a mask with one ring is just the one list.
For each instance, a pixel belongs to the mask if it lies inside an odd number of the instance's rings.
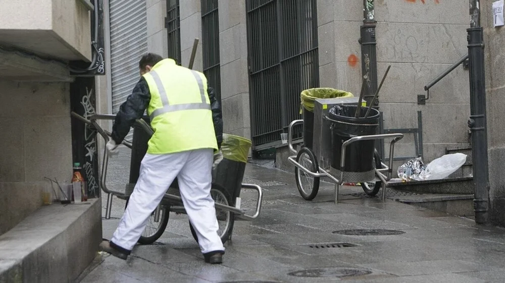
[[[84,122],[88,127],[91,127],[95,129],[100,136],[102,136],[107,143],[109,141],[109,138],[111,136],[111,133],[105,131],[102,127],[100,127],[97,124],[98,120],[114,120],[115,115],[93,115],[89,117],[89,120],[76,114],[75,112],[71,112],[71,115]],[[139,119],[135,121],[135,127],[142,129],[145,131],[148,135],[148,137],[153,135],[153,129],[142,119]],[[126,147],[133,149],[134,145],[132,142],[128,141],[123,141],[123,145]],[[222,150],[224,150],[222,148]],[[223,152],[223,155],[225,155],[226,160],[226,154]],[[220,166],[226,162],[221,161],[221,163],[217,166],[216,171],[220,171]],[[126,190],[124,192],[120,191],[113,191],[109,190],[107,188],[106,184],[106,179],[107,179],[107,167],[109,164],[109,156],[107,154],[107,149],[104,147],[104,154],[103,154],[103,161],[102,161],[102,172],[100,174],[100,187],[102,190],[107,194],[107,207],[106,207],[106,219],[110,219],[111,217],[111,210],[112,210],[112,198],[113,196],[118,197],[119,199],[125,200],[128,202],[128,199],[131,195],[131,192],[133,191],[134,184],[127,184],[126,185]],[[224,165],[223,165],[224,166]],[[244,169],[245,169],[245,164],[243,164]],[[226,168],[225,168],[226,169]],[[215,176],[216,171],[214,171],[213,175]],[[229,171],[229,170],[226,170]],[[218,173],[219,174],[219,173]],[[214,177],[213,176],[213,177]],[[263,200],[263,191],[262,188],[258,185],[252,185],[252,184],[241,184],[243,178],[243,172],[242,176],[239,178],[236,178],[238,182],[237,183],[237,188],[225,188],[227,184],[223,184],[222,182],[215,182],[215,178],[213,178],[213,183],[212,183],[212,188],[211,188],[211,196],[215,201],[215,208],[216,208],[216,216],[218,218],[218,225],[219,225],[219,230],[218,234],[221,237],[221,240],[223,243],[225,243],[227,240],[231,239],[232,231],[233,231],[233,224],[235,221],[235,216],[246,219],[246,220],[252,220],[256,219],[260,215],[261,211],[261,203]],[[254,211],[254,214],[246,214],[245,209],[240,208],[240,201],[237,201],[239,199],[239,192],[241,189],[252,189],[258,192],[258,198],[257,198],[257,203],[256,203],[256,209]],[[232,192],[230,192],[232,191]],[[233,193],[233,191],[238,192],[238,193]],[[174,182],[170,188],[167,188],[167,193],[163,197],[160,205],[157,207],[153,213],[151,213],[151,216],[149,217],[148,224],[143,231],[140,239],[138,240],[139,244],[152,244],[156,240],[158,240],[161,235],[165,232],[165,229],[167,227],[167,223],[169,220],[169,212],[176,212],[176,213],[185,213],[185,209],[182,203],[182,199],[179,193],[179,189],[177,186],[177,182]],[[189,223],[190,229],[191,229],[191,234],[193,235],[193,238],[197,240],[196,233],[191,226],[191,223]]]

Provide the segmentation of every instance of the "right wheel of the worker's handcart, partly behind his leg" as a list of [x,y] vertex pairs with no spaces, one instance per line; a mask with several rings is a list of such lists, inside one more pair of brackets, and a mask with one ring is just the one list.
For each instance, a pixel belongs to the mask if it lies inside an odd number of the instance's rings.
[[[230,205],[230,197],[228,192],[221,186],[212,184],[211,197],[216,203],[223,205]],[[221,208],[216,208],[216,218],[218,219],[218,235],[221,238],[221,242],[226,243],[228,241],[231,231],[233,230],[233,224],[235,223],[235,215],[233,212],[223,210]],[[194,231],[191,221],[189,221],[189,229],[191,230],[191,235],[193,235],[194,240],[198,243],[198,237]]]

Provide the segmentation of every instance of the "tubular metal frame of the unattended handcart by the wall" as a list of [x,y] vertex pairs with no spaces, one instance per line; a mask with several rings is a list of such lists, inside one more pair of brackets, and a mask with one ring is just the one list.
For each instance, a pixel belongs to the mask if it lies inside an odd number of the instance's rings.
[[[330,120],[328,117],[324,117],[324,119]],[[289,124],[288,127],[288,147],[289,151],[293,154],[297,154],[297,151],[293,147],[293,127],[299,124],[303,124],[304,120],[294,120]],[[386,187],[387,187],[387,182],[391,180],[392,176],[392,166],[393,166],[393,155],[394,155],[394,145],[396,142],[401,140],[403,138],[403,134],[380,134],[380,135],[368,135],[368,136],[357,136],[357,137],[352,137],[345,142],[342,143],[342,150],[341,150],[341,156],[340,156],[340,177],[337,179],[336,177],[332,176],[331,174],[328,174],[324,168],[321,168],[321,166],[318,166],[318,172],[314,173],[309,171],[309,169],[305,168],[303,165],[298,163],[296,161],[296,155],[292,155],[288,157],[288,161],[291,162],[294,166],[296,166],[298,169],[303,171],[304,173],[310,175],[311,177],[314,178],[324,178],[328,177],[330,178],[334,183],[335,183],[335,203],[338,202],[338,193],[340,186],[345,182],[344,179],[344,172],[345,172],[345,149],[347,146],[351,143],[357,142],[357,141],[364,141],[364,140],[383,140],[387,138],[392,138],[390,144],[389,144],[389,164],[386,165],[382,161],[380,162],[382,165],[382,168],[375,168],[375,175],[379,178],[380,181],[382,181],[382,201],[386,200]],[[318,159],[319,156],[316,158]],[[384,174],[385,173],[385,174]],[[363,180],[362,180],[363,181]],[[361,181],[361,182],[362,182]],[[375,180],[374,180],[375,181]],[[378,181],[378,180],[377,180]],[[367,182],[367,181],[365,181]]]

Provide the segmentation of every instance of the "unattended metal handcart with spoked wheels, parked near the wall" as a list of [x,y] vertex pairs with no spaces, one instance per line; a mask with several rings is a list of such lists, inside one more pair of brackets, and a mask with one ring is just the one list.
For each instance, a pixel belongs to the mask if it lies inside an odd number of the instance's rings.
[[[333,123],[338,122],[329,118],[328,111],[335,105],[356,105],[358,98],[326,98],[315,99],[314,105],[314,134],[311,137],[312,146],[301,146],[299,151],[293,147],[293,127],[296,125],[304,124],[304,120],[294,120],[288,127],[288,146],[291,153],[295,154],[288,157],[289,162],[295,166],[295,179],[296,185],[300,195],[306,200],[312,200],[316,197],[319,191],[320,179],[328,178],[335,184],[335,203],[338,202],[339,188],[344,183],[361,183],[363,190],[368,195],[376,195],[382,187],[382,200],[386,197],[387,182],[392,176],[392,162],[394,145],[397,141],[403,138],[402,134],[373,134],[348,137],[341,140],[341,146],[332,146],[332,139],[335,139],[331,127]],[[358,108],[358,107],[357,107]],[[368,107],[366,107],[368,108]],[[358,108],[359,109],[359,108]],[[373,109],[373,108],[372,108]],[[358,110],[355,110],[358,111]],[[378,112],[377,112],[378,113]],[[306,112],[304,111],[304,118]],[[312,118],[310,119],[312,122]],[[347,123],[352,124],[352,123]],[[306,129],[304,125],[304,130]],[[304,136],[304,140],[305,140]],[[347,168],[352,166],[352,162],[359,162],[360,160],[349,160],[349,146],[355,143],[364,141],[374,141],[381,139],[392,139],[389,146],[389,164],[384,164],[380,156],[373,146],[373,164],[372,170],[369,172],[353,172]],[[339,151],[338,160],[332,160],[334,151]],[[338,155],[338,154],[337,154]],[[333,166],[333,164],[337,164]],[[338,167],[338,169],[334,168]]]

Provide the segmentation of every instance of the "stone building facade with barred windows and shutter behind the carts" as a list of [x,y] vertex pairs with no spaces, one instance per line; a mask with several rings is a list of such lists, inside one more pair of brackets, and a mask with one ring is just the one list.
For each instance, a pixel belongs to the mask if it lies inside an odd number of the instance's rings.
[[[198,38],[193,69],[203,71],[218,90],[225,132],[250,138],[252,152],[280,145],[280,134],[301,117],[301,90],[332,87],[358,96],[363,70],[376,69],[380,81],[388,65],[391,71],[379,95],[384,128],[419,132],[406,134],[397,156],[422,155],[431,161],[447,148],[469,147],[468,71],[459,66],[431,87],[429,96],[424,90],[467,53],[468,5],[375,1],[374,60],[362,54],[360,44],[365,4],[111,0],[112,110],[138,79],[135,64],[140,53],[157,52],[188,66]],[[116,10],[129,11],[129,28],[114,21]],[[118,30],[128,34],[120,36]],[[133,37],[137,41],[129,39]],[[376,64],[371,66],[371,60]],[[419,97],[428,99],[418,103]],[[300,130],[295,134],[301,137]]]

